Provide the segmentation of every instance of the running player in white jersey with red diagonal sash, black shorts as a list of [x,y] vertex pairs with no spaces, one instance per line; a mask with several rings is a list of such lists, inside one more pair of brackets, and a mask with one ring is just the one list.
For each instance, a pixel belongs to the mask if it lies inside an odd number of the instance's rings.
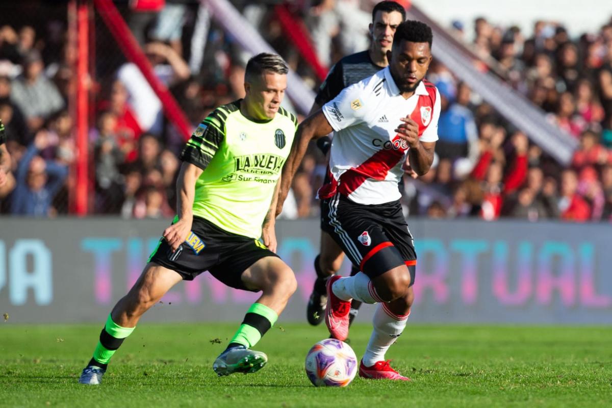
[[327,282],[325,322],[332,337],[344,340],[351,300],[378,303],[359,366],[364,378],[408,380],[385,353],[414,300],[416,253],[397,182],[406,161],[419,175],[429,171],[438,140],[440,95],[425,80],[432,37],[427,24],[401,23],[387,51],[389,67],[347,87],[299,125],[281,177],[280,203],[310,140],[334,131],[330,182],[318,194],[326,232],[362,272]]

